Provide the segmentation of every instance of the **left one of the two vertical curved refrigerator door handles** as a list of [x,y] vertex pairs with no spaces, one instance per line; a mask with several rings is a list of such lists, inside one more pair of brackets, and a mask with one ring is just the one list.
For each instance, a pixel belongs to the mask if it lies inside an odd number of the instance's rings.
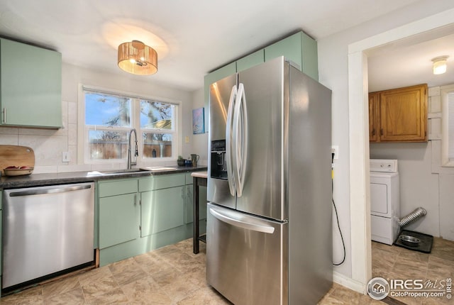
[[227,121],[226,121],[226,167],[227,167],[227,181],[228,189],[232,196],[236,195],[236,183],[235,174],[233,174],[233,160],[232,160],[232,145],[235,142],[233,140],[233,106],[235,106],[235,100],[237,95],[236,85],[232,87],[230,99],[228,101]]

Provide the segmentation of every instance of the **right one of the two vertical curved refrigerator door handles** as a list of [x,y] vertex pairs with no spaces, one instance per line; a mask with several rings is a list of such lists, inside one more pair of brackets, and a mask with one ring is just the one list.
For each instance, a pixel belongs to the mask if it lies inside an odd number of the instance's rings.
[[233,137],[238,147],[236,153],[236,182],[238,197],[243,194],[246,162],[248,161],[248,109],[246,107],[246,96],[244,85],[239,84],[238,94],[236,95],[235,110],[233,111]]

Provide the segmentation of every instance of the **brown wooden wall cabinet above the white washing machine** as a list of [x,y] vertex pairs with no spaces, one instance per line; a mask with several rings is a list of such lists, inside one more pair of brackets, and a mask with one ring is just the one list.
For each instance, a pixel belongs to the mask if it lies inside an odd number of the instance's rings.
[[369,141],[427,142],[427,84],[370,93]]

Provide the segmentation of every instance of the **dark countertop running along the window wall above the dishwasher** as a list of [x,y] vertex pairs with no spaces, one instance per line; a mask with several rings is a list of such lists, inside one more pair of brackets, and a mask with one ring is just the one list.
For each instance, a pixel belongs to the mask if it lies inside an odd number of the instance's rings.
[[[146,167],[145,167],[146,168]],[[181,172],[196,172],[207,170],[206,166],[184,167],[172,166],[175,170],[140,170],[128,172],[127,170],[92,171],[92,172],[58,172],[48,174],[28,174],[16,177],[0,177],[0,189],[13,189],[18,187],[42,187],[52,184],[68,184],[78,182],[92,182],[107,179],[121,179],[131,177],[147,177],[160,174],[176,174]]]

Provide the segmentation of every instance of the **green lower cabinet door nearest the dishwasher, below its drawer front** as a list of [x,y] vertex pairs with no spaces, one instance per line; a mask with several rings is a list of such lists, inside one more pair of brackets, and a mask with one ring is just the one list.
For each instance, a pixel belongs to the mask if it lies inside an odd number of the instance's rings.
[[107,248],[139,237],[137,194],[99,199],[99,248]]

